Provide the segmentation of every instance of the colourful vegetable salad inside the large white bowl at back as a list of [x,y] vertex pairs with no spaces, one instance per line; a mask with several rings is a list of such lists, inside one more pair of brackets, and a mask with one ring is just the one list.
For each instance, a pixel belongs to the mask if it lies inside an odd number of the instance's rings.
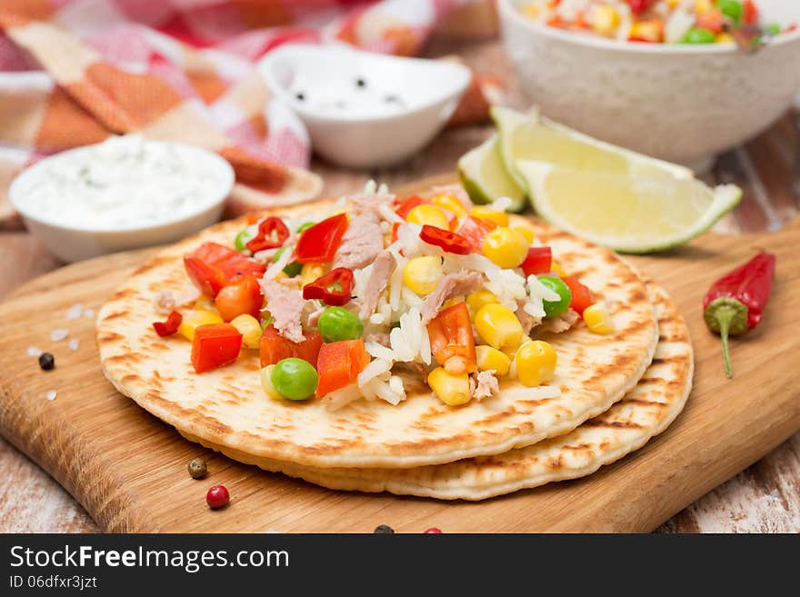
[[532,0],[520,12],[560,29],[651,44],[722,44],[743,27],[767,35],[797,28],[762,23],[754,0]]

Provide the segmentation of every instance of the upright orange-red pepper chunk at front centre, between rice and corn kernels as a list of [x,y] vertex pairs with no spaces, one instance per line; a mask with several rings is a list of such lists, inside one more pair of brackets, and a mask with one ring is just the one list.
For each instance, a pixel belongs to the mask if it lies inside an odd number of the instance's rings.
[[475,337],[466,303],[443,309],[427,328],[431,353],[448,373],[472,373],[477,369]]

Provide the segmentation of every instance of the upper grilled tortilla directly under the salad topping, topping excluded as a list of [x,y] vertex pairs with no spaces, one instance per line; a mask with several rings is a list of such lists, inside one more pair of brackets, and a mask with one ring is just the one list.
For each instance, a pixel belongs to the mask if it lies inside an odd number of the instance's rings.
[[[320,213],[329,204],[305,204],[278,213]],[[614,253],[572,234],[528,220],[551,244],[566,271],[611,305],[616,331],[590,333],[579,324],[547,340],[558,355],[555,398],[505,380],[499,395],[451,407],[423,383],[406,384],[397,406],[359,400],[331,412],[318,400],[271,400],[259,379],[256,351],[227,367],[196,374],[191,343],[160,338],[152,328],[159,291],[191,287],[183,256],[199,244],[233,245],[245,219],[217,224],[174,244],[146,264],[105,303],[97,344],[106,377],[140,406],[187,437],[250,458],[319,468],[411,468],[505,453],[567,433],[603,413],[633,388],[650,364],[658,329],[653,304],[638,275]],[[420,382],[422,380],[420,379]]]

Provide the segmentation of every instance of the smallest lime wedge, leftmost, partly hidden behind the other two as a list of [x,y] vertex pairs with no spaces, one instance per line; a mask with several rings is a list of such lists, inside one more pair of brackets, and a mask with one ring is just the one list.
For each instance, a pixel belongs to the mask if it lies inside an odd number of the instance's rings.
[[473,203],[490,204],[508,197],[513,202],[509,210],[519,212],[525,207],[525,192],[505,169],[496,134],[458,160],[458,177]]

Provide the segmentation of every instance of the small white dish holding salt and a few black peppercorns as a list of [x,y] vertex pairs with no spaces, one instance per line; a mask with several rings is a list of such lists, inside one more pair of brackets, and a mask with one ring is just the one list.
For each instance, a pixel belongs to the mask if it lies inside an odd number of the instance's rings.
[[472,74],[462,65],[377,55],[345,45],[289,44],[259,71],[303,120],[315,152],[348,167],[401,162],[447,123]]

